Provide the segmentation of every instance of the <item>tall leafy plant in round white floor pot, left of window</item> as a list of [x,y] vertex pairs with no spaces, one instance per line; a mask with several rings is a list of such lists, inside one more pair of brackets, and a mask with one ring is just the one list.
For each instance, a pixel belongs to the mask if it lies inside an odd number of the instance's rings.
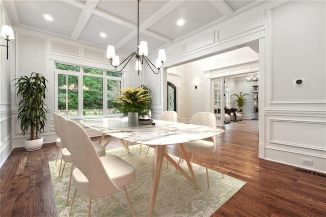
[[44,103],[47,79],[42,74],[32,72],[30,77],[21,76],[14,81],[17,96],[22,98],[18,105],[17,120],[20,121],[23,135],[30,130],[30,139],[24,142],[25,149],[38,150],[43,145],[43,138],[39,137],[39,133],[44,131],[47,120],[47,105]]

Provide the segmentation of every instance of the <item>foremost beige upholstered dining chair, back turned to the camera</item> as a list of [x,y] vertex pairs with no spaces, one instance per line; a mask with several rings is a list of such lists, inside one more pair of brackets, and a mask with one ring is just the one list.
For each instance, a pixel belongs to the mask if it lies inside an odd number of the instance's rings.
[[120,192],[120,187],[123,187],[130,211],[134,216],[126,189],[126,185],[135,180],[134,167],[115,155],[99,157],[85,129],[71,120],[66,123],[64,140],[69,144],[67,148],[75,165],[72,173],[75,192],[71,201],[70,214],[77,192],[90,195],[88,209],[88,216],[90,216],[93,198],[114,195]]

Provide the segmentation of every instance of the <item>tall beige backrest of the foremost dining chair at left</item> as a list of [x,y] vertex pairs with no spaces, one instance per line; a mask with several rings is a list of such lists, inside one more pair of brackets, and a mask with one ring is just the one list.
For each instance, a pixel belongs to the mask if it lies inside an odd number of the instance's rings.
[[93,198],[105,197],[120,192],[106,173],[92,141],[85,129],[78,123],[67,121],[67,138],[73,164],[86,176]]

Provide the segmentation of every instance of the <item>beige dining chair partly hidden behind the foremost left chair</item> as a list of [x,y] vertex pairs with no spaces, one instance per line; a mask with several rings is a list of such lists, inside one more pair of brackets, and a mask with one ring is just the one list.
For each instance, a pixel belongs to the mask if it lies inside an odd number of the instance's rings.
[[[65,131],[62,128],[62,125],[65,123],[67,119],[61,115],[58,115],[57,113],[53,113],[53,122],[55,123],[55,130],[57,135],[59,136],[60,140],[61,140],[61,136],[65,133]],[[68,195],[67,195],[67,202],[66,205],[68,206],[69,204],[69,196],[70,196],[70,187],[71,187],[71,178],[72,178],[72,170],[73,170],[73,162],[72,162],[72,157],[70,154],[70,151],[65,147],[66,145],[69,144],[65,144],[64,142],[62,142],[63,145],[63,149],[61,149],[61,162],[60,162],[60,167],[59,167],[59,176],[60,176],[60,171],[61,171],[61,165],[62,165],[62,161],[64,161],[64,165],[63,165],[63,169],[61,172],[61,177],[60,177],[60,181],[62,179],[63,176],[63,172],[65,170],[65,166],[66,163],[72,163],[71,164],[71,169],[70,169],[70,179],[69,179],[69,185],[68,185]],[[97,154],[99,156],[104,156],[105,155],[105,146],[101,146],[100,144],[96,143],[96,142],[92,142]]]

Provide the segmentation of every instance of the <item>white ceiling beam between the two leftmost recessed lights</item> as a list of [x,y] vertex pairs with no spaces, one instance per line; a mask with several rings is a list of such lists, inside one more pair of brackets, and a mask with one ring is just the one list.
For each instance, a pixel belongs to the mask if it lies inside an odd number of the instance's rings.
[[86,7],[84,9],[82,9],[82,12],[79,14],[79,17],[75,24],[75,27],[73,28],[73,31],[70,36],[71,39],[77,40],[79,38],[80,34],[82,34],[82,32],[85,29],[85,26],[86,26],[88,20],[92,16],[92,12],[98,2],[99,2],[99,0],[86,2],[86,5],[85,5]]

